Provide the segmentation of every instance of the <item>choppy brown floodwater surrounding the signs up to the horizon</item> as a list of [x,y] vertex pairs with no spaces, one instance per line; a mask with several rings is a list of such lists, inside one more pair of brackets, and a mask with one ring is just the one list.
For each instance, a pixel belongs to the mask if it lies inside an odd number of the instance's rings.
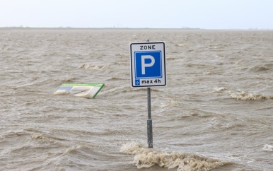
[[[131,88],[130,42],[167,86]],[[0,170],[273,170],[273,31],[0,29]],[[62,83],[105,83],[94,99]]]

